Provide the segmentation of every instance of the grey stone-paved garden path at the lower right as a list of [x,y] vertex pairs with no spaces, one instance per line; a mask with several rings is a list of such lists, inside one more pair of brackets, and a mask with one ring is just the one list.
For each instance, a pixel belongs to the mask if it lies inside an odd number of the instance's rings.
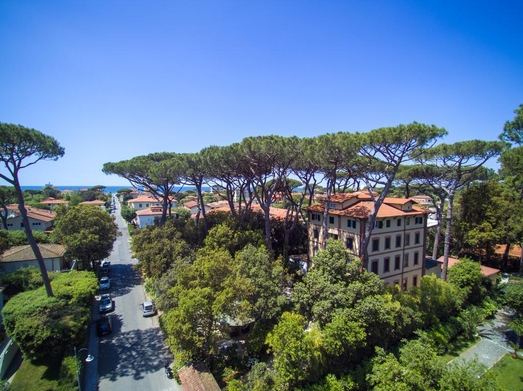
[[479,326],[481,340],[452,361],[468,361],[477,357],[477,360],[487,369],[491,368],[505,354],[514,351],[508,343],[508,341],[516,341],[514,332],[508,329],[509,320],[510,313],[499,310],[492,321],[486,321]]

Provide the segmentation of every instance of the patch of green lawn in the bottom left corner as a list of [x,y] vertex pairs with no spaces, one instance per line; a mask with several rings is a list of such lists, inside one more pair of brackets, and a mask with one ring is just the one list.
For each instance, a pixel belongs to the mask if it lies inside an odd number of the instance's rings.
[[13,391],[54,391],[58,389],[60,364],[59,360],[49,360],[46,363],[22,361],[11,384]]

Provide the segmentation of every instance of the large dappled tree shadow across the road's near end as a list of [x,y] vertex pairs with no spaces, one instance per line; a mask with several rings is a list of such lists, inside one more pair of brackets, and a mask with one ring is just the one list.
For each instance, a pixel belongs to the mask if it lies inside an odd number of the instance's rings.
[[113,333],[102,342],[104,358],[100,360],[100,378],[116,381],[118,377],[132,376],[139,380],[147,373],[163,370],[169,349],[164,345],[162,331],[149,328],[120,333],[121,319],[113,316]]

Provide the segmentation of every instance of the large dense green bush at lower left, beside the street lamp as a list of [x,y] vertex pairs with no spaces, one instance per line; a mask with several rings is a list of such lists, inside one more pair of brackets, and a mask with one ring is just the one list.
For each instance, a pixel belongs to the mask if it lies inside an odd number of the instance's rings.
[[15,295],[2,310],[7,335],[26,358],[62,357],[85,338],[96,277],[71,271],[55,276],[51,285],[54,297],[43,287],[29,290]]

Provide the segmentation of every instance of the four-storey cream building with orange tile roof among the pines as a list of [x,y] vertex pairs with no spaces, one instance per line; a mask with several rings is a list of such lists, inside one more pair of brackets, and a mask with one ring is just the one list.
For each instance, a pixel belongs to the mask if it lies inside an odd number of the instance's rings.
[[[410,198],[385,198],[381,205],[368,245],[368,263],[385,285],[398,284],[406,290],[417,286],[425,274],[427,210],[413,206]],[[329,202],[327,232],[329,238],[341,240],[345,248],[361,256],[363,236],[374,207],[369,194],[334,194]],[[309,264],[325,245],[323,212],[325,203],[303,208],[308,211]]]

